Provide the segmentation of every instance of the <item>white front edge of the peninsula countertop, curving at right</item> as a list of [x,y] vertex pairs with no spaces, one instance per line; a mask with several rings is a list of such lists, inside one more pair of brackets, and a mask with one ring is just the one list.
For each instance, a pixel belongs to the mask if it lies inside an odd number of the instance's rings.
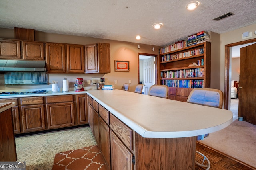
[[204,134],[213,133],[221,129],[224,129],[225,127],[228,127],[228,125],[230,125],[233,120],[233,117],[231,117],[228,121],[218,126],[210,127],[206,129],[196,129],[191,131],[176,131],[176,132],[148,131],[147,129],[144,129],[134,121],[130,120],[128,117],[122,115],[122,113],[119,113],[118,111],[116,111],[116,109],[102,102],[99,98],[97,98],[93,94],[90,94],[90,92],[88,92],[88,94],[92,96],[92,98],[96,100],[96,102],[98,102],[100,105],[105,107],[108,111],[110,111],[110,113],[115,115],[118,119],[123,121],[128,127],[136,131],[136,133],[138,133],[144,138],[180,138],[180,137],[193,137],[198,135],[204,135]]

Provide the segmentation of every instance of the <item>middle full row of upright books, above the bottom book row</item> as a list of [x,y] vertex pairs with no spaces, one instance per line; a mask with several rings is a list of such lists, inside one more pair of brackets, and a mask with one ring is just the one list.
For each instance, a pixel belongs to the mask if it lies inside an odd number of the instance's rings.
[[161,78],[192,78],[203,76],[204,68],[192,68],[176,71],[161,71]]

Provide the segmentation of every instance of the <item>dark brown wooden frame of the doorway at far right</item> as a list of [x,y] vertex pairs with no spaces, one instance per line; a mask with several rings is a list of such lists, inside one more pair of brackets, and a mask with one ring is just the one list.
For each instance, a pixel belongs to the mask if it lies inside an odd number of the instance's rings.
[[256,42],[256,38],[225,45],[225,83],[224,83],[224,109],[229,105],[229,71],[230,71],[230,47]]

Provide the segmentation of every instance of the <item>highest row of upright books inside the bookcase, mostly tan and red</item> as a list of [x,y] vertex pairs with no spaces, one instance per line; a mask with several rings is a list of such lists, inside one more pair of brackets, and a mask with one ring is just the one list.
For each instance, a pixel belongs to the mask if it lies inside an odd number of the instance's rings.
[[203,48],[186,51],[184,53],[178,53],[178,54],[174,54],[174,55],[171,55],[171,54],[162,55],[161,61],[170,61],[170,60],[174,60],[174,59],[181,59],[181,58],[191,57],[193,55],[200,55],[200,54],[204,54]]

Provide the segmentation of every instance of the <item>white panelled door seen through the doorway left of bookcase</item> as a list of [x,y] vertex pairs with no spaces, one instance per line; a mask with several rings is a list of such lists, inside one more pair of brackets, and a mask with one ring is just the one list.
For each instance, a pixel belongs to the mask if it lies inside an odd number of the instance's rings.
[[143,65],[144,65],[144,94],[148,94],[149,88],[154,85],[154,57],[151,57],[149,59],[144,59],[143,60]]

